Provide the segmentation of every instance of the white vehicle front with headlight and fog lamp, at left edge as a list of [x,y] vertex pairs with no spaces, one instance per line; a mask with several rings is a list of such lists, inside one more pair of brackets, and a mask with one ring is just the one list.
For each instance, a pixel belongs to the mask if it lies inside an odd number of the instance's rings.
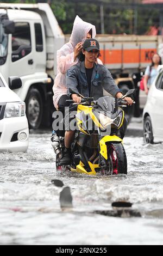
[[18,77],[10,77],[8,86],[0,73],[0,152],[26,152],[28,149],[26,105],[12,92],[21,86]]

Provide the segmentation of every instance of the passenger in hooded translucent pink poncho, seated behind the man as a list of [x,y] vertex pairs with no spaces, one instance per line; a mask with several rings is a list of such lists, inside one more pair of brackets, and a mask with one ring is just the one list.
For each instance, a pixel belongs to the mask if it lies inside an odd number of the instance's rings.
[[[67,96],[66,72],[71,66],[76,65],[79,62],[78,56],[80,52],[82,52],[85,39],[95,38],[95,36],[96,27],[91,23],[83,21],[79,16],[76,16],[70,41],[62,46],[57,52],[57,76],[55,77],[53,86],[53,102],[54,107],[63,114],[65,107],[68,106],[66,100],[69,99]],[[98,64],[102,64],[99,59]],[[57,135],[53,131],[51,137],[52,146],[57,138]]]

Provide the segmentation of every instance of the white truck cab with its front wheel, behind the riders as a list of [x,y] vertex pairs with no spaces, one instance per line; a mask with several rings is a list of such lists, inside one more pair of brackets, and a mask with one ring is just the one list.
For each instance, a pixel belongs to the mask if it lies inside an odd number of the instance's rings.
[[0,72],[22,80],[15,93],[26,102],[29,128],[50,125],[57,50],[65,38],[46,3],[0,3]]

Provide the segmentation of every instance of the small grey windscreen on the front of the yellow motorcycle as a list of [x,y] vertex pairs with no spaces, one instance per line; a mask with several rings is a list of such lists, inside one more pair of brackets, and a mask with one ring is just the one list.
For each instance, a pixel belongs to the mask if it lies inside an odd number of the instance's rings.
[[97,100],[97,105],[103,111],[110,112],[111,114],[115,114],[118,110],[117,99],[111,96],[104,96]]

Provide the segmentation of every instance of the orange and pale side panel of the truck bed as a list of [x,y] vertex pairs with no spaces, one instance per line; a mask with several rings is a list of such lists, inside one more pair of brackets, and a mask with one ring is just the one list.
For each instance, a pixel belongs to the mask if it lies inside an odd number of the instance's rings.
[[151,57],[162,44],[162,36],[98,35],[101,60],[114,74],[140,72],[151,63]]

